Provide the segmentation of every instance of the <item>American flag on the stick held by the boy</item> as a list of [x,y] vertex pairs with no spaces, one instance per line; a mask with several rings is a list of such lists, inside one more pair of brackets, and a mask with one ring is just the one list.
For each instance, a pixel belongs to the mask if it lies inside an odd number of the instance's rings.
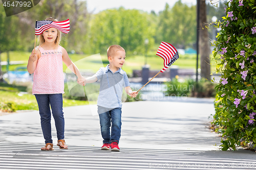
[[175,47],[172,44],[163,41],[161,42],[156,55],[160,56],[164,60],[164,67],[161,72],[165,71],[179,58],[179,54]]

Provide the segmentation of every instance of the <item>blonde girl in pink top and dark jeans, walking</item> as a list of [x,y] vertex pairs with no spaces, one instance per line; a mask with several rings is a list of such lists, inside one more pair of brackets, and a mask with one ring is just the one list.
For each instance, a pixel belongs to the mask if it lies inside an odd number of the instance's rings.
[[[46,20],[57,21],[52,17]],[[46,143],[45,147],[41,148],[42,151],[53,150],[50,105],[57,131],[57,145],[60,149],[68,149],[64,140],[65,120],[62,112],[62,94],[64,93],[62,61],[71,71],[77,73],[78,80],[85,80],[59,42],[59,30],[49,28],[42,32],[39,35],[39,46],[32,51],[27,65],[29,73],[34,73],[32,93],[38,104],[42,133]]]

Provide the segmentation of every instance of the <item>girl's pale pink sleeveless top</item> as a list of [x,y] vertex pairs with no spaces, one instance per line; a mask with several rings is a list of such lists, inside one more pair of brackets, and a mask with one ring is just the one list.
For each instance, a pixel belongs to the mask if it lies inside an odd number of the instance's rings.
[[33,94],[63,94],[64,78],[61,46],[57,50],[44,50],[38,46],[41,57],[34,71]]

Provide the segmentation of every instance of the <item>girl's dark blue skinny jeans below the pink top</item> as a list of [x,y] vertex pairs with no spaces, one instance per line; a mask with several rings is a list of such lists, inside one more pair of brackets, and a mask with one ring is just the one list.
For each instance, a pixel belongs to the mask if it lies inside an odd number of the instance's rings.
[[58,140],[64,139],[65,120],[62,112],[62,94],[35,94],[41,116],[41,128],[45,143],[52,143],[51,110],[55,120]]

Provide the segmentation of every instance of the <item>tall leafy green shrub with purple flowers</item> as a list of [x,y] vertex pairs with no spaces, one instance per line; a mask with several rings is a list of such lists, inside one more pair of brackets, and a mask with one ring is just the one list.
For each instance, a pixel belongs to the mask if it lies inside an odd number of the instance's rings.
[[[216,21],[220,28],[214,57],[221,59],[217,72],[222,77],[217,89],[216,131],[226,137],[222,150],[233,149],[244,142],[256,146],[256,15],[254,0],[233,0],[226,3],[226,17]],[[220,56],[217,55],[220,53]]]

